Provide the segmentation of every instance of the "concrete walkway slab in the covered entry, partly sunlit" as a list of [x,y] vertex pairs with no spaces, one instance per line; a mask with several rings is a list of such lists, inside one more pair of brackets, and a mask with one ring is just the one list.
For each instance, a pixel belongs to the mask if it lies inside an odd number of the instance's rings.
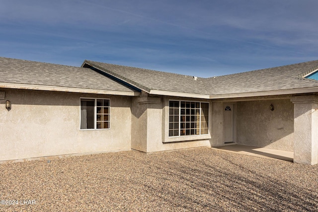
[[246,146],[239,144],[230,144],[220,147],[215,147],[216,149],[221,149],[225,151],[237,152],[240,154],[247,154],[257,157],[265,157],[265,158],[274,158],[279,160],[292,161],[294,160],[294,152],[293,151],[283,151],[277,149],[263,148],[263,147],[255,147],[255,146]]

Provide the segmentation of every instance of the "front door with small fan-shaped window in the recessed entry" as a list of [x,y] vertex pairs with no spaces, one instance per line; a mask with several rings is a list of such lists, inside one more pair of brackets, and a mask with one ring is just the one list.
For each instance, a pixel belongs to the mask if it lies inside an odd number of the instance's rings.
[[224,142],[233,142],[233,104],[224,105]]

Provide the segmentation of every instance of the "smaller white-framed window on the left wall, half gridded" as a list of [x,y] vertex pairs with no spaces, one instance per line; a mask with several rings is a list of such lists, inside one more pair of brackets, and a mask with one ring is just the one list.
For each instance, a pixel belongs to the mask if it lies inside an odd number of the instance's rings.
[[109,129],[109,99],[80,99],[80,129]]

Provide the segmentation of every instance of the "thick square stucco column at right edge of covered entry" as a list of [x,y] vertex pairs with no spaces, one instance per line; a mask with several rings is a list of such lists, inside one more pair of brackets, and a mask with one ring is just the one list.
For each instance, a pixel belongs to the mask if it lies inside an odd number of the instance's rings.
[[318,164],[318,96],[293,96],[294,162]]

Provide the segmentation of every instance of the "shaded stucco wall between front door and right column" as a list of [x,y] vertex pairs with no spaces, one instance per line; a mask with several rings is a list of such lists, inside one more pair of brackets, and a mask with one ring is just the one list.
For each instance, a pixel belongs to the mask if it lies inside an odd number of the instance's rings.
[[294,105],[290,99],[237,102],[236,113],[237,143],[294,150]]

